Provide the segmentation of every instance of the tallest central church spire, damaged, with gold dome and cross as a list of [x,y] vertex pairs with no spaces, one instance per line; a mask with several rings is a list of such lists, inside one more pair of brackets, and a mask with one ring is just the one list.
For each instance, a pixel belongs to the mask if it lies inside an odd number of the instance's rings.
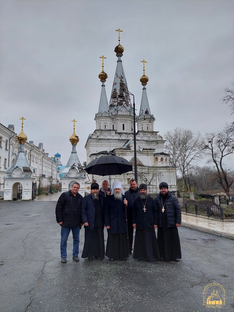
[[124,75],[124,69],[121,60],[124,52],[124,47],[120,45],[120,32],[123,31],[120,29],[116,29],[116,31],[119,32],[119,44],[115,47],[114,51],[116,53],[116,56],[118,57],[118,60],[110,96],[110,107],[122,105],[132,107],[128,94],[128,85]]

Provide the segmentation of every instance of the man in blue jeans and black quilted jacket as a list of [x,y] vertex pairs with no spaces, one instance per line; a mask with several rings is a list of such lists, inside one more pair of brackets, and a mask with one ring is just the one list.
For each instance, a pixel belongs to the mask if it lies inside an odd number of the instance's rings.
[[60,251],[62,263],[67,262],[67,239],[70,232],[72,232],[73,236],[72,259],[76,262],[80,260],[78,257],[80,228],[83,225],[80,207],[83,197],[78,193],[79,189],[80,184],[74,182],[70,191],[61,194],[56,205],[56,221],[61,226]]

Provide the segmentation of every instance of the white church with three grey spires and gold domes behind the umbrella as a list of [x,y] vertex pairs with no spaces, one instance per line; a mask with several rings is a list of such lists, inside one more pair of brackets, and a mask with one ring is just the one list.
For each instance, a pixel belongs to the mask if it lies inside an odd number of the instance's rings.
[[[87,164],[102,154],[114,153],[134,165],[134,115],[122,66],[123,52],[124,48],[119,43],[115,47],[118,60],[109,103],[105,92],[105,81],[108,76],[103,68],[99,74],[102,83],[101,96],[98,113],[95,115],[96,129],[89,134],[85,144]],[[146,94],[149,78],[145,76],[144,71],[143,67],[143,76],[140,78],[143,93],[138,110],[139,115],[136,116],[138,184],[146,183],[150,193],[157,193],[159,184],[167,182],[169,189],[173,191],[176,190],[176,168],[170,166],[169,154],[164,153],[165,140],[158,134],[158,131],[154,130],[155,118],[151,114]],[[89,175],[89,178],[90,181],[96,180],[97,183],[101,183],[108,177]],[[114,182],[114,179],[121,181],[126,190],[129,188],[131,178],[134,178],[134,172],[112,176],[111,183]]]

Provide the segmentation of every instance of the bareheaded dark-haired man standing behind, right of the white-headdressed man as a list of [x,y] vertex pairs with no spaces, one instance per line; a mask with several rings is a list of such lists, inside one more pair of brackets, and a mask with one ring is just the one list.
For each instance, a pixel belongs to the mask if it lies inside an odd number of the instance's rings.
[[129,254],[132,254],[132,244],[133,244],[133,222],[132,222],[132,209],[134,201],[139,197],[140,192],[137,186],[137,180],[130,180],[130,188],[125,192],[125,195],[128,198],[128,210],[127,210],[127,218],[128,218],[128,241],[129,241]]

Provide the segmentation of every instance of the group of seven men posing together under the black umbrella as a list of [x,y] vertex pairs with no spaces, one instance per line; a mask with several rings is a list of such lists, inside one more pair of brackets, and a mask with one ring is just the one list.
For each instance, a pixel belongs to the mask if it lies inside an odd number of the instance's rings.
[[[133,258],[143,261],[179,261],[181,259],[178,227],[181,209],[178,199],[168,191],[168,184],[160,183],[160,193],[154,199],[147,194],[147,185],[130,181],[124,193],[122,184],[114,182],[112,189],[104,180],[91,184],[90,194],[78,193],[79,183],[59,197],[56,221],[61,226],[61,262],[66,263],[69,233],[73,235],[73,260],[79,261],[79,234],[84,225],[85,242],[81,257],[92,261],[107,256],[110,261]],[[106,250],[104,227],[108,232]],[[158,228],[156,237],[155,229]],[[134,249],[133,234],[135,232]]]

